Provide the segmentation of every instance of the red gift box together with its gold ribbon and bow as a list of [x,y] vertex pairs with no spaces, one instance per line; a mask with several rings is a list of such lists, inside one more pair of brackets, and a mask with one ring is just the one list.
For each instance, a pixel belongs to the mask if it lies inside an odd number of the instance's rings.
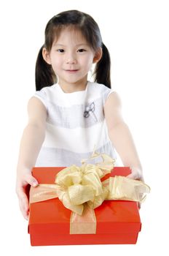
[[[97,165],[96,165],[97,166]],[[135,244],[137,201],[149,187],[125,178],[129,167],[34,167],[28,233],[32,246]]]

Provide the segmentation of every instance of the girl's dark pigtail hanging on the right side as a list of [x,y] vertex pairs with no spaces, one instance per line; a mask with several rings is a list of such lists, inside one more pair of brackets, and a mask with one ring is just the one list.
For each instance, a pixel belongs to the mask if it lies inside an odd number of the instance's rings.
[[111,59],[109,55],[109,50],[102,43],[103,55],[100,61],[95,65],[95,82],[102,83],[103,85],[111,88],[111,78],[110,78],[110,67]]

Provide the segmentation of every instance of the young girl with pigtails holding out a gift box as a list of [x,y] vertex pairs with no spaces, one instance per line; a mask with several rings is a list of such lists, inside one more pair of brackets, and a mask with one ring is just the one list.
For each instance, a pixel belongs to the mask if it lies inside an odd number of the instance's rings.
[[[87,80],[95,64],[94,80]],[[36,61],[36,93],[28,102],[17,164],[16,191],[28,219],[28,185],[34,166],[81,165],[93,148],[116,158],[129,178],[143,181],[130,130],[122,119],[119,96],[111,89],[110,56],[98,24],[90,15],[71,10],[55,15],[45,29]]]

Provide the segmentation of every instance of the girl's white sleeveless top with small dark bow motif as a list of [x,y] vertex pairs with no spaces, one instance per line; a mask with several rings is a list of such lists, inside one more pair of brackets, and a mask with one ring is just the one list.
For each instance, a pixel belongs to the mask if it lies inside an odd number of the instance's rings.
[[111,92],[92,82],[87,82],[84,91],[73,93],[63,92],[58,83],[36,91],[34,97],[47,109],[46,135],[36,166],[80,166],[82,159],[90,158],[94,146],[116,158],[103,112]]

